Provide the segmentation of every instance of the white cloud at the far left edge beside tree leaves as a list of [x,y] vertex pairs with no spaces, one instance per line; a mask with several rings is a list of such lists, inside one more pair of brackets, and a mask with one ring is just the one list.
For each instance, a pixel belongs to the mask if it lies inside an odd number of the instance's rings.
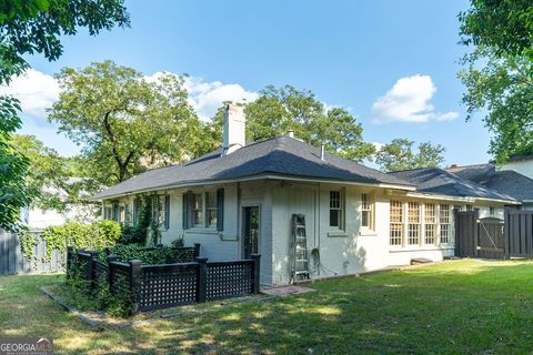
[[59,84],[52,75],[29,69],[23,75],[14,78],[9,87],[0,87],[0,94],[19,99],[24,115],[46,119],[46,109],[59,97]]

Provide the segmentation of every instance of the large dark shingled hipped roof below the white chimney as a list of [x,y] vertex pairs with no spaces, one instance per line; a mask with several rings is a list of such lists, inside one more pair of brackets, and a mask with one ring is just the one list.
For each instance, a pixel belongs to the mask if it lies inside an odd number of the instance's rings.
[[215,182],[262,174],[414,187],[409,182],[395,176],[328,152],[325,152],[324,160],[321,160],[319,148],[289,136],[281,136],[251,143],[225,156],[221,156],[221,151],[218,150],[182,165],[150,170],[100,192],[92,200],[172,185]]

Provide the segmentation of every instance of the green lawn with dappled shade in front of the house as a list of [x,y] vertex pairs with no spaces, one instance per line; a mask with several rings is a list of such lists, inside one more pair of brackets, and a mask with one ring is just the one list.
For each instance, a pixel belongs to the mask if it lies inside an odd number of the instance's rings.
[[524,354],[533,263],[466,260],[312,284],[316,292],[94,332],[43,296],[61,275],[0,277],[0,336],[57,353]]

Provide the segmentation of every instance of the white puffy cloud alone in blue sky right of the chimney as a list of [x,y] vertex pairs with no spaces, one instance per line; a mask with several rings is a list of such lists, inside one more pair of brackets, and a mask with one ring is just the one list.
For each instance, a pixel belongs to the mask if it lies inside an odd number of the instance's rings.
[[391,90],[374,101],[372,116],[375,123],[450,121],[457,112],[435,112],[431,100],[436,87],[430,75],[399,79]]

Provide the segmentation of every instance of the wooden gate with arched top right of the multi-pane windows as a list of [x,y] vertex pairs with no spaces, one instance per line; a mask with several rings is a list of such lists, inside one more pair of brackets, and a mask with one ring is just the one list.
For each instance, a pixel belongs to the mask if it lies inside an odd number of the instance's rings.
[[503,220],[479,219],[477,211],[455,214],[455,255],[504,258],[506,235]]

